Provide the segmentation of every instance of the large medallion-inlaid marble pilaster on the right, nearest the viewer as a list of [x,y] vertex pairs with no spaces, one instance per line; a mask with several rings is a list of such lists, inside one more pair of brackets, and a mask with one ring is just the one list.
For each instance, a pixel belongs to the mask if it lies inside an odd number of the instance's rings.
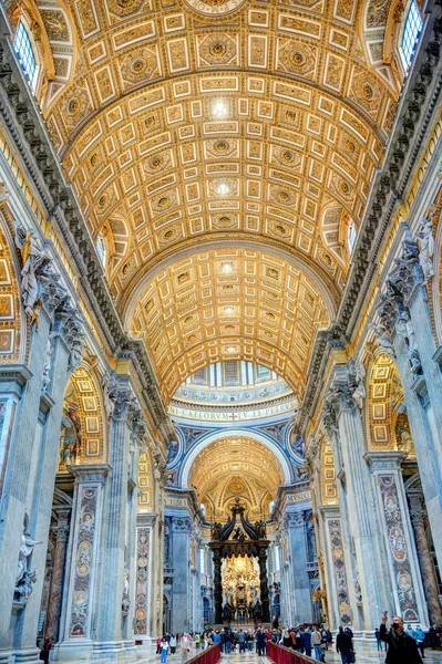
[[429,618],[402,479],[403,458],[401,452],[366,454],[389,561],[393,613],[407,623],[420,623],[425,630]]

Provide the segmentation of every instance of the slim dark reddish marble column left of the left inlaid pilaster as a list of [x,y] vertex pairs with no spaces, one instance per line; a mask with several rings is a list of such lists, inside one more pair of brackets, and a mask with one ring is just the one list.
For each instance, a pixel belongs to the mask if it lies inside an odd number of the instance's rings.
[[44,630],[45,639],[51,639],[53,642],[58,641],[59,635],[71,509],[59,508],[56,512],[59,521],[56,525],[56,541],[53,554],[51,588],[49,591],[48,618]]

